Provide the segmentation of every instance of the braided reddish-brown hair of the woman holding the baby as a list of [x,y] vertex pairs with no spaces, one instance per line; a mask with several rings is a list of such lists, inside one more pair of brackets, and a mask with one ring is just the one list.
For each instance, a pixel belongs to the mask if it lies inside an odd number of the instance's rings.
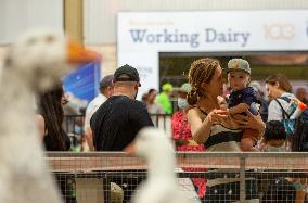
[[210,58],[200,59],[191,64],[189,83],[192,86],[192,90],[187,98],[190,105],[196,104],[197,99],[204,96],[204,90],[201,87],[202,83],[208,84],[219,66],[219,61]]

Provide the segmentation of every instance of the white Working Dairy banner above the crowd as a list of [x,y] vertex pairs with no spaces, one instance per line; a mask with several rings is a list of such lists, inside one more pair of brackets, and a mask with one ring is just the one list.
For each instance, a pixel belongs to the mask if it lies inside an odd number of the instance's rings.
[[308,10],[123,12],[117,43],[144,92],[158,89],[159,52],[307,51]]

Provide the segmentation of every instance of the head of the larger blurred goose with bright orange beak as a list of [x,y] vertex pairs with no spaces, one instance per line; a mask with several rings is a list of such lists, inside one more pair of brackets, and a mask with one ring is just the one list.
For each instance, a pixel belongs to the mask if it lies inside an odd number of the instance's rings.
[[99,60],[61,33],[37,29],[20,36],[9,48],[4,69],[12,72],[25,85],[43,91],[67,74],[78,63]]

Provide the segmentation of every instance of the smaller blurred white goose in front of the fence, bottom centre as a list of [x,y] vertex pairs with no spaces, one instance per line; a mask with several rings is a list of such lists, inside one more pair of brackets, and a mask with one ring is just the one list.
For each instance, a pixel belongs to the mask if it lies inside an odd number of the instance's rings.
[[143,128],[125,150],[146,160],[147,179],[132,198],[132,203],[189,203],[179,190],[175,173],[175,153],[164,131]]

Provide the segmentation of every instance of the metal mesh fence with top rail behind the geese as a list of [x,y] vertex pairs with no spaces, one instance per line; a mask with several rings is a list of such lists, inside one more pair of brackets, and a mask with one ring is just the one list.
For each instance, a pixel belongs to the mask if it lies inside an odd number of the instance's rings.
[[[120,152],[55,152],[47,160],[66,202],[130,202],[146,179],[145,162]],[[192,202],[307,202],[308,153],[178,153],[175,173]]]

